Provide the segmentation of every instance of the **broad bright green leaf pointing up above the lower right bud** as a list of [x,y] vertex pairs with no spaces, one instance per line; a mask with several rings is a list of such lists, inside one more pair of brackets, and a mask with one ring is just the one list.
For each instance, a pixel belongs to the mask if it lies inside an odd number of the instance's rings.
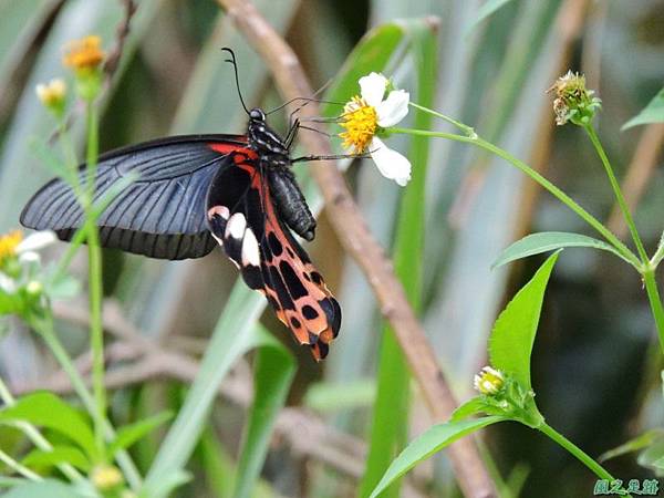
[[494,324],[489,340],[491,365],[511,375],[525,390],[530,385],[530,353],[539,323],[547,282],[558,259],[551,255]]

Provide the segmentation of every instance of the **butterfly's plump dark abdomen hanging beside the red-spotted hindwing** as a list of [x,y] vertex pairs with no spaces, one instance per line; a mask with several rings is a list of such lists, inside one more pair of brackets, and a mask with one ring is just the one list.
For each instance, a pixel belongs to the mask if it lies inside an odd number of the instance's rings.
[[286,168],[271,169],[269,181],[274,204],[283,221],[300,237],[313,240],[315,218],[309,210],[292,172]]

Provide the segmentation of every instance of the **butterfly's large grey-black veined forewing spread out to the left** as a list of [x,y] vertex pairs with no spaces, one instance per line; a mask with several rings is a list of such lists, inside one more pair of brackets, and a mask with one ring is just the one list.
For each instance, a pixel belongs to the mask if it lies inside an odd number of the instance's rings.
[[[216,246],[207,222],[206,194],[227,155],[246,146],[246,137],[196,135],[169,137],[104,154],[95,175],[95,199],[121,178],[137,179],[116,196],[97,220],[107,248],[163,259],[198,258]],[[85,184],[85,168],[79,173]],[[72,188],[53,179],[21,214],[21,224],[50,229],[71,240],[83,224],[83,209]]]

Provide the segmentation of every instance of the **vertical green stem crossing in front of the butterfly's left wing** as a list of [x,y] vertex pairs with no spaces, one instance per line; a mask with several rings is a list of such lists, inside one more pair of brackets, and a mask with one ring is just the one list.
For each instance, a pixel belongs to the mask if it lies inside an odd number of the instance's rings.
[[[94,178],[98,156],[98,129],[96,108],[93,102],[87,103],[87,155],[86,155],[86,185],[85,219],[92,216],[94,199]],[[90,287],[90,346],[92,350],[92,391],[94,394],[95,411],[94,428],[97,449],[104,456],[104,421],[106,419],[106,385],[104,383],[104,330],[102,328],[102,250],[100,247],[98,231],[95,224],[87,224],[87,260]]]

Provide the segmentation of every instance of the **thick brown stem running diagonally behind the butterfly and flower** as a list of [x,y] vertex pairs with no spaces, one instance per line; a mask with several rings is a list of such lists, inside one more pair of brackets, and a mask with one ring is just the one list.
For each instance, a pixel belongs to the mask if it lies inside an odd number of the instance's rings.
[[[251,2],[217,1],[270,68],[284,100],[313,95],[297,55]],[[303,107],[301,113],[311,117],[320,115],[315,102]],[[322,135],[303,134],[302,142],[311,154],[331,154],[330,144]],[[438,367],[424,330],[408,305],[403,287],[394,274],[392,262],[370,234],[335,164],[321,162],[311,170],[325,199],[329,219],[341,243],[355,259],[372,286],[381,311],[394,329],[434,418],[438,422],[447,421],[457,403]],[[474,498],[496,496],[494,484],[473,438],[464,438],[450,446],[449,458],[464,495]]]

